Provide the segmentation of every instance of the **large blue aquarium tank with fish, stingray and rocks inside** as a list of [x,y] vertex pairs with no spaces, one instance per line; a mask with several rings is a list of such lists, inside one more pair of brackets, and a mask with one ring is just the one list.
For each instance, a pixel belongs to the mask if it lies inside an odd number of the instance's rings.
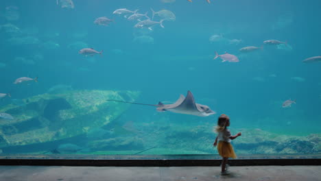
[[320,154],[320,7],[2,0],[0,156]]

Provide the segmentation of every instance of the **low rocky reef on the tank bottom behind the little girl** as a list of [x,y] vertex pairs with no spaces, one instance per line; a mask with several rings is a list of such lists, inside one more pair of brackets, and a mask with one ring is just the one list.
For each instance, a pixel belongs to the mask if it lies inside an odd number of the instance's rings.
[[[158,131],[145,135],[153,137]],[[242,132],[242,136],[232,141],[237,154],[316,154],[321,152],[321,134],[308,136],[292,136],[276,134],[260,129],[241,129],[233,132]],[[170,150],[185,150],[189,154],[217,154],[213,147],[215,132],[209,126],[199,125],[195,128],[167,129],[157,135],[158,147]],[[147,143],[144,141],[145,145]]]

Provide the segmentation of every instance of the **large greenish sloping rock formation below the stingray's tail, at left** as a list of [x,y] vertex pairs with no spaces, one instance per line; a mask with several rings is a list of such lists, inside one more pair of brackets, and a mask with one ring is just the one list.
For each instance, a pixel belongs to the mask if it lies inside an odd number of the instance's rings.
[[0,108],[14,120],[0,121],[0,147],[46,143],[86,134],[117,119],[128,104],[106,101],[134,101],[135,91],[71,90],[23,99],[23,106]]

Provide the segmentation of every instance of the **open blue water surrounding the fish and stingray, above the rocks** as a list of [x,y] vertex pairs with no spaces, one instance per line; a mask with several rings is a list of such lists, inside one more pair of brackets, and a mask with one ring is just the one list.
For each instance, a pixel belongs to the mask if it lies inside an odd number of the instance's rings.
[[[46,93],[57,84],[74,89],[139,90],[137,102],[174,102],[191,90],[196,102],[217,114],[210,117],[157,113],[154,108],[130,106],[125,119],[134,123],[161,120],[164,124],[215,126],[219,114],[228,114],[231,130],[259,128],[277,134],[307,136],[320,134],[321,62],[302,60],[320,56],[321,1],[254,0],[74,0],[75,8],[56,5],[55,0],[3,0],[0,25],[11,23],[19,34],[0,29],[0,93],[11,99],[25,99]],[[14,6],[19,19],[8,19],[5,8]],[[139,9],[140,13],[170,10],[176,21],[164,21],[153,31],[134,28],[136,22],[112,14],[119,8]],[[95,25],[100,16],[113,19],[108,27]],[[156,15],[156,21],[160,18]],[[84,34],[83,36],[78,36]],[[137,43],[135,36],[147,34],[154,43]],[[210,42],[213,35],[222,40]],[[32,36],[38,42],[13,45],[12,37]],[[229,40],[241,40],[235,45]],[[264,40],[287,41],[292,49],[264,45],[263,50],[241,53],[247,46],[263,45]],[[49,41],[53,47],[47,46]],[[84,42],[103,55],[85,57],[75,42]],[[239,57],[240,62],[213,60],[215,51]],[[38,56],[40,58],[35,58]],[[33,64],[14,61],[17,57]],[[39,77],[39,82],[17,88],[18,77]],[[298,81],[292,77],[302,77]],[[4,99],[1,106],[11,104]],[[291,108],[283,101],[296,99]],[[156,114],[157,113],[157,114]],[[173,128],[175,130],[176,128]],[[214,135],[213,135],[214,136]],[[178,138],[179,139],[179,138]]]

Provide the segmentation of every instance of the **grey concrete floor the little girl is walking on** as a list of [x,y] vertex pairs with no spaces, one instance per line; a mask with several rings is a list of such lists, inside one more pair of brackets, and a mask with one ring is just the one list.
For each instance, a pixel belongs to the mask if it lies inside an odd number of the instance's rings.
[[229,176],[220,176],[219,167],[36,167],[0,166],[1,181],[318,181],[321,166],[230,167]]

